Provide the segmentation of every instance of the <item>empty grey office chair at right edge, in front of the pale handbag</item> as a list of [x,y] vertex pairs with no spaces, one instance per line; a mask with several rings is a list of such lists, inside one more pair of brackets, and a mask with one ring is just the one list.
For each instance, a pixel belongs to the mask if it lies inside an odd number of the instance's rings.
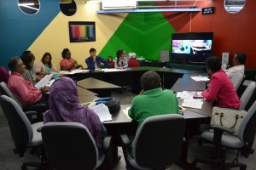
[[[203,163],[212,167],[212,169],[227,169],[229,167],[240,167],[241,170],[247,168],[246,164],[238,162],[239,153],[242,156],[248,157],[249,154],[253,154],[253,141],[256,133],[256,101],[253,103],[247,115],[241,121],[238,128],[238,134],[233,135],[233,129],[228,127],[222,127],[218,125],[212,125],[210,129],[213,129],[214,133],[205,131],[201,133],[201,139],[212,142],[216,146],[216,160],[209,161],[203,159],[195,159],[192,162],[196,164]],[[225,149],[237,150],[236,158],[232,162],[225,162]]]

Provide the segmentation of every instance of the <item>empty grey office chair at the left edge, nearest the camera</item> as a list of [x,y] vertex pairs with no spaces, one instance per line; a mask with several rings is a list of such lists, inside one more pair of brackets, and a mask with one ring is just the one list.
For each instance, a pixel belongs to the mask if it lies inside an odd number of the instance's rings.
[[44,163],[44,149],[41,133],[37,132],[38,127],[44,126],[44,122],[31,124],[20,106],[14,99],[6,95],[0,96],[0,105],[3,113],[9,122],[10,132],[15,142],[15,153],[23,157],[27,148],[36,150],[41,162],[25,162],[21,169],[26,170],[27,166],[42,167]]

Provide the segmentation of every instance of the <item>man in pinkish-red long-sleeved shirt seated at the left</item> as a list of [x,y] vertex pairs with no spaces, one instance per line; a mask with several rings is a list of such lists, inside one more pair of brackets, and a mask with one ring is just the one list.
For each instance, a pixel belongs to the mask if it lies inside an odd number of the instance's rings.
[[8,88],[20,100],[21,105],[24,107],[35,103],[49,105],[47,96],[43,97],[46,92],[45,87],[35,88],[31,82],[22,77],[25,65],[19,57],[9,59],[9,70],[12,74],[9,77]]

